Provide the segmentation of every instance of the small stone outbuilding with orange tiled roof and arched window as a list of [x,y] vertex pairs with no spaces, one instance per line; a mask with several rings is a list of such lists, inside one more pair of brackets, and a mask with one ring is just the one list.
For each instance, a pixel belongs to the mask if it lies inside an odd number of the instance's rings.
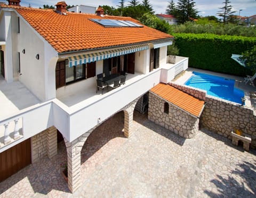
[[159,83],[149,91],[148,119],[185,138],[199,130],[205,102],[181,90]]

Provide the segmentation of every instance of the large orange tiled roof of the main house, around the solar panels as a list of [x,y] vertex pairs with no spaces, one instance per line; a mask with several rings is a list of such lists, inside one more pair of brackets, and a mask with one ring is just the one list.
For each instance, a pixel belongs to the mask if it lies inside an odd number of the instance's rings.
[[71,13],[67,15],[54,10],[34,9],[21,6],[2,6],[15,9],[28,23],[59,53],[91,50],[102,47],[139,44],[161,39],[171,35],[161,31],[140,27],[103,27],[90,19],[118,19],[139,21],[130,17],[105,16],[96,14]]

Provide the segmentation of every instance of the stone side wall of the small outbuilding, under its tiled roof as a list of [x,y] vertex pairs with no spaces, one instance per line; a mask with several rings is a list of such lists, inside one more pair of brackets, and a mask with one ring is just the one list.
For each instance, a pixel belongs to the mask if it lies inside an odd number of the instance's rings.
[[164,113],[163,98],[149,92],[148,119],[157,125],[185,138],[192,138],[198,131],[199,119],[169,103],[169,114]]

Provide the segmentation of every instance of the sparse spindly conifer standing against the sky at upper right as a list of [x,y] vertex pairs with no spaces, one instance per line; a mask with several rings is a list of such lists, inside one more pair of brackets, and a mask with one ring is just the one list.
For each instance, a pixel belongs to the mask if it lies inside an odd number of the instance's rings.
[[229,5],[231,2],[229,0],[225,0],[225,2],[222,3],[225,5],[223,7],[219,7],[221,10],[217,13],[217,15],[223,18],[223,23],[233,22],[235,20],[235,11],[231,11],[232,6]]

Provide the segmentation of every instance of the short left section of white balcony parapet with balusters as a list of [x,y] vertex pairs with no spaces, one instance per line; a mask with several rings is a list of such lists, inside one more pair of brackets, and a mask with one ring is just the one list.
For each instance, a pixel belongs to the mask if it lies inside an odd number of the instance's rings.
[[0,152],[53,126],[52,101],[20,111],[0,121]]

